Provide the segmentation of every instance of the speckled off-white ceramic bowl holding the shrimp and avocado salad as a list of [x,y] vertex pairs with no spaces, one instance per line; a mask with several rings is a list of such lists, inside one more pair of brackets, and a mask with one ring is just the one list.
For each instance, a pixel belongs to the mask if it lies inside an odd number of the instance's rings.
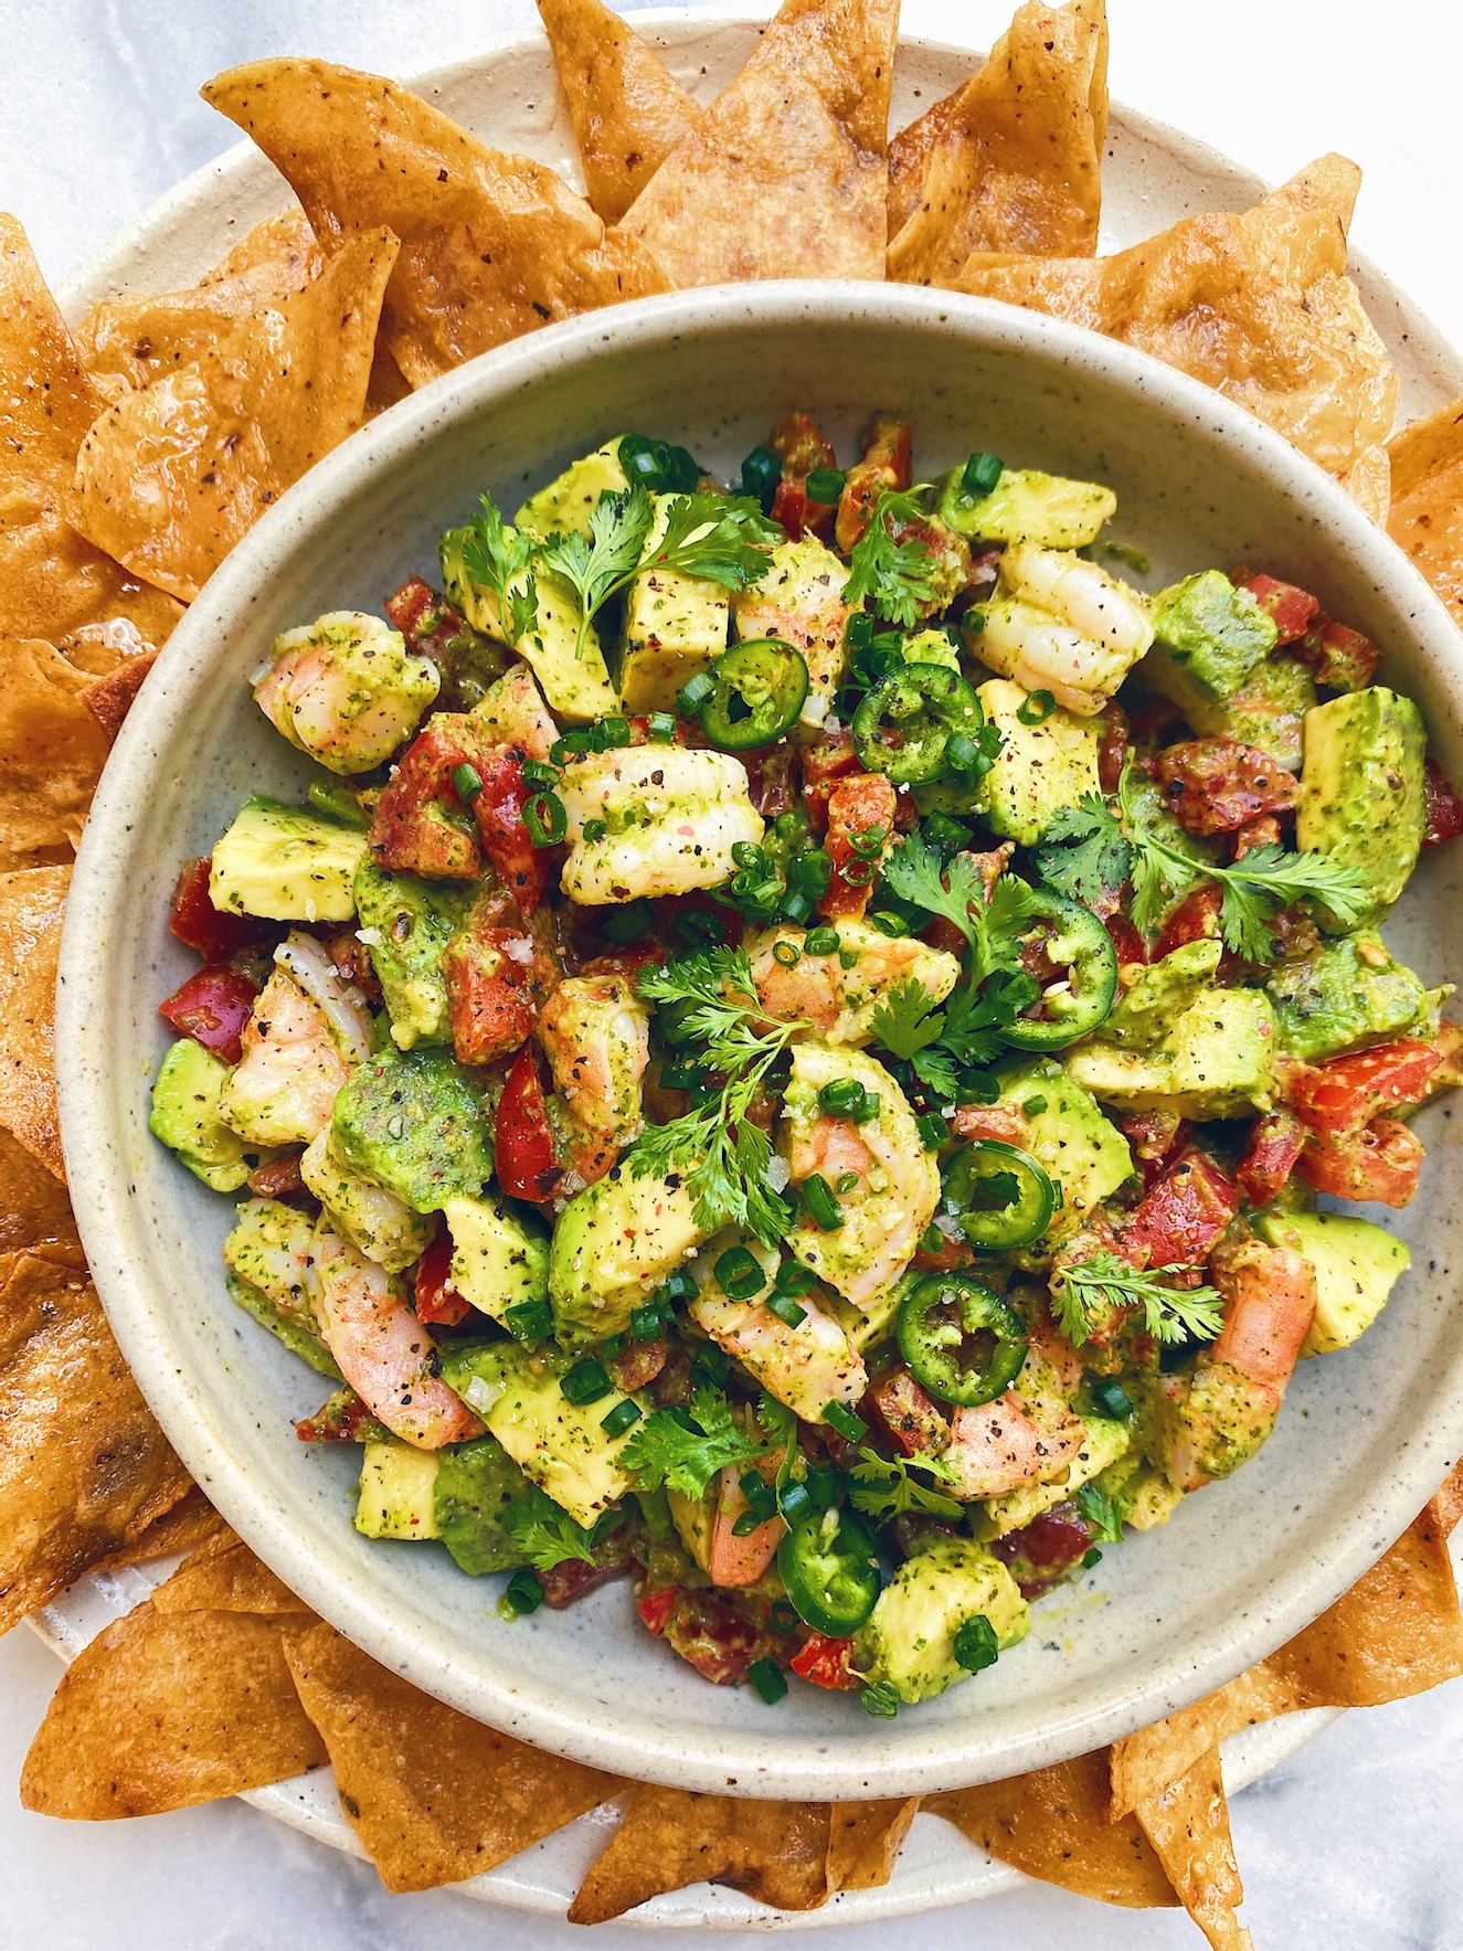
[[[156,1003],[191,966],[166,929],[179,860],[240,800],[297,794],[304,763],[248,673],[320,611],[378,609],[433,574],[437,535],[490,490],[507,507],[626,427],[722,476],[790,408],[847,453],[872,406],[905,414],[921,472],[973,447],[1092,476],[1159,587],[1248,560],[1315,589],[1385,646],[1383,677],[1463,771],[1463,663],[1445,611],[1311,462],[1200,384],[1036,314],[911,287],[782,283],[644,300],[503,347],[355,435],[254,529],[170,640],[86,829],[66,921],[57,1057],[72,1198],[98,1288],[178,1452],[248,1543],[314,1608],[429,1693],[544,1748],[652,1781],[765,1797],[909,1795],[1090,1750],[1209,1692],[1313,1619],[1410,1522],[1463,1446],[1463,1315],[1451,1305],[1459,1155],[1438,1143],[1410,1212],[1381,1215],[1414,1270],[1358,1348],[1303,1364],[1262,1455],[1110,1549],[1036,1608],[1030,1639],[897,1721],[794,1688],[776,1709],[712,1690],[613,1584],[507,1623],[497,1580],[349,1524],[355,1453],[302,1446],[318,1377],[234,1309],[232,1204],[146,1132],[166,1048]],[[1451,870],[1457,872],[1457,870]],[[1393,942],[1447,976],[1457,888],[1420,868]],[[1447,1112],[1422,1120],[1445,1137]]]

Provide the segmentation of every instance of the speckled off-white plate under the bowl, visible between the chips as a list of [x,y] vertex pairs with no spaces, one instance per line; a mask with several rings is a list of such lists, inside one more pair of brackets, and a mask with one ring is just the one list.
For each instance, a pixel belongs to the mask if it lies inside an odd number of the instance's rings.
[[[659,39],[673,66],[702,96],[712,94],[735,72],[755,35],[755,25],[743,20],[640,16],[636,23]],[[895,127],[954,86],[968,68],[968,53],[929,43],[907,45],[895,80]],[[548,49],[536,37],[505,43],[480,60],[441,70],[419,86],[490,140],[536,154],[573,174],[568,119],[558,107]],[[1256,189],[1252,178],[1213,152],[1122,113],[1114,117],[1104,183],[1104,242],[1112,244],[1149,234],[1186,211],[1239,207],[1250,201]],[[275,174],[248,146],[240,146],[179,185],[137,226],[123,232],[72,281],[64,302],[74,312],[109,289],[129,285],[170,289],[187,283],[217,261],[248,224],[281,203],[283,185]],[[1362,283],[1403,373],[1404,412],[1422,412],[1463,390],[1463,373],[1455,357],[1426,320],[1418,318],[1377,273],[1364,271]],[[140,1596],[144,1582],[144,1574],[123,1574],[121,1580],[94,1580],[92,1590],[70,1594],[51,1612],[53,1639],[74,1651],[92,1629],[99,1627],[103,1612],[109,1613],[117,1606],[125,1610]],[[1044,1623],[1048,1629],[1055,1623],[1049,1612]],[[1315,1719],[1299,1717],[1276,1729],[1256,1731],[1246,1738],[1246,1752],[1231,1758],[1235,1768],[1231,1779],[1239,1783],[1274,1766],[1282,1752],[1289,1752],[1305,1738],[1307,1723],[1313,1725]],[[256,1801],[332,1842],[355,1846],[339,1816],[328,1775],[261,1791]],[[577,1871],[597,1846],[603,1822],[603,1816],[585,1818],[572,1832],[527,1851],[513,1865],[478,1879],[468,1889],[505,1902],[562,1908]],[[958,1902],[1001,1889],[1012,1877],[1012,1871],[971,1850],[946,1824],[921,1818],[890,1887],[858,1892],[835,1908],[796,1922],[815,1926],[835,1916],[854,1920]],[[644,1916],[646,1922],[700,1926],[794,1922],[774,1920],[761,1906],[722,1891],[677,1892],[648,1906]]]

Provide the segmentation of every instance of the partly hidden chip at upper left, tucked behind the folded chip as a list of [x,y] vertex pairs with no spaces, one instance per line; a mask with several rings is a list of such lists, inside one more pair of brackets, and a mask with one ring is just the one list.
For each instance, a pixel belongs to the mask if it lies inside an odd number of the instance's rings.
[[287,211],[256,224],[191,291],[101,299],[76,328],[92,384],[115,402],[193,365],[234,326],[302,291],[322,263],[304,211]]

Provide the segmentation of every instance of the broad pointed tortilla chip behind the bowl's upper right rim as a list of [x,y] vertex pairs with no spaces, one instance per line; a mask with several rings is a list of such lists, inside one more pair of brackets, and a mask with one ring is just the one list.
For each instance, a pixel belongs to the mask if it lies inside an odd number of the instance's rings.
[[973,256],[952,281],[1137,345],[1248,408],[1346,480],[1397,408],[1387,347],[1346,277],[1352,166],[1323,158],[1239,215],[1186,217],[1114,258]]

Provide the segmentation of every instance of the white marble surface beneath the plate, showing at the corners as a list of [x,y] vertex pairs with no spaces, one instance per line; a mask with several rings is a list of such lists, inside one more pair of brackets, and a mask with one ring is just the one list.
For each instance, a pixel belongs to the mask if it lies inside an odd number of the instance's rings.
[[[1356,240],[1463,339],[1463,10],[1422,0],[1108,0],[1112,92],[1270,179],[1325,148],[1367,170]],[[989,45],[1005,0],[907,0],[905,27]],[[322,53],[410,72],[533,20],[529,0],[4,0],[0,203],[60,279],[94,246],[232,139],[197,86],[265,53]],[[33,1635],[0,1645],[0,1945],[47,1951],[435,1951],[462,1941],[583,1941],[566,1926],[451,1892],[388,1896],[361,1863],[236,1803],[117,1826],[20,1809],[16,1779],[55,1686]],[[1260,1945],[1295,1951],[1463,1947],[1463,1686],[1348,1715],[1237,1799],[1233,1820]],[[1163,1912],[1104,1912],[1026,1889],[917,1926],[927,1951],[1001,1945],[1163,1951],[1198,1941]],[[821,1941],[893,1951],[909,1926],[835,1928]],[[597,1943],[644,1943],[605,1926]],[[732,1941],[702,1933],[700,1943]]]

